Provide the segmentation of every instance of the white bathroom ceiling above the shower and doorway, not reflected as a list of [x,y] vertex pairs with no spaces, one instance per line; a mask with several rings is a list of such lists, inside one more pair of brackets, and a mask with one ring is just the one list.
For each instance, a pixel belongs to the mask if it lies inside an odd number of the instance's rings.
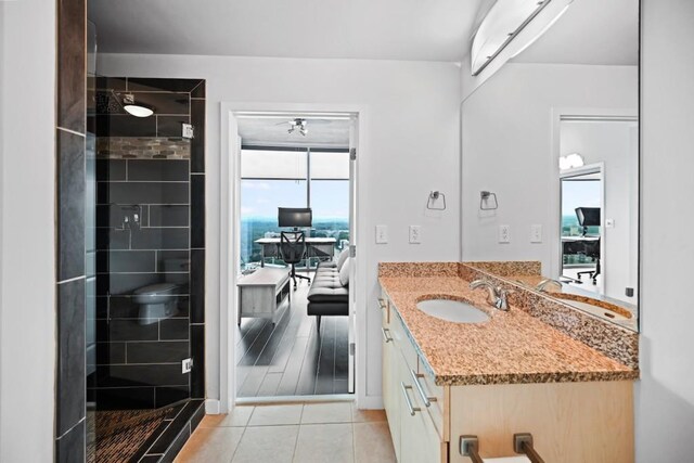
[[470,48],[478,10],[489,3],[90,0],[89,16],[99,51],[106,53],[458,62]]

